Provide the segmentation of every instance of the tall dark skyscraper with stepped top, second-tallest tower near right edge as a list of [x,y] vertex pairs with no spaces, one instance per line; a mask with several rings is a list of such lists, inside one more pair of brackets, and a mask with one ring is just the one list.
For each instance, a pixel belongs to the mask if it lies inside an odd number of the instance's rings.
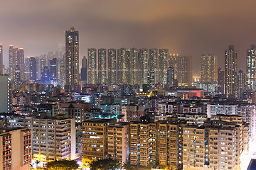
[[234,45],[228,46],[225,51],[225,95],[235,96],[238,86],[238,52]]

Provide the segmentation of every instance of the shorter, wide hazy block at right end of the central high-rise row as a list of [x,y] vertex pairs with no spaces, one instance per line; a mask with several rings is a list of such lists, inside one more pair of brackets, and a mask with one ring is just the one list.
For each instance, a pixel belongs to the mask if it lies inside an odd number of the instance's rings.
[[192,57],[177,57],[176,69],[178,86],[191,86],[192,84]]

